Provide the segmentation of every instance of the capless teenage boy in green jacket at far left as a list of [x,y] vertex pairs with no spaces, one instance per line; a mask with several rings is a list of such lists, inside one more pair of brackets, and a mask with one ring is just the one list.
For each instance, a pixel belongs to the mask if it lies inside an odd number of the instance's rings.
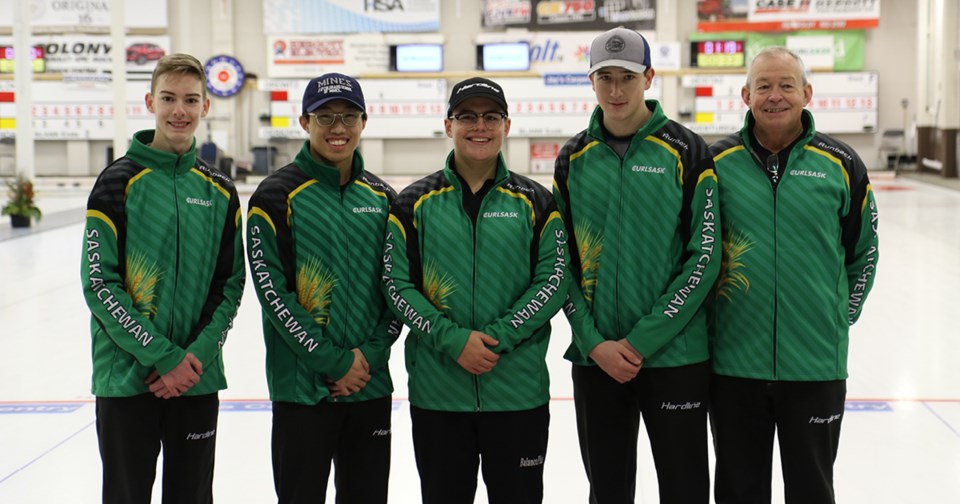
[[240,202],[197,158],[203,66],[157,62],[156,129],[97,178],[87,202],[83,293],[92,314],[103,502],[150,502],[163,448],[163,502],[213,501],[221,349],[243,293]]

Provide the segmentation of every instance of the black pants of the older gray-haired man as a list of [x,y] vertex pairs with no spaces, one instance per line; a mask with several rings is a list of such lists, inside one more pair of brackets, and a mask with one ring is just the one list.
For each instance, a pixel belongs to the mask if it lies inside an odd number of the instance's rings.
[[769,504],[773,434],[786,504],[832,504],[845,380],[777,382],[714,375],[710,424],[717,504]]

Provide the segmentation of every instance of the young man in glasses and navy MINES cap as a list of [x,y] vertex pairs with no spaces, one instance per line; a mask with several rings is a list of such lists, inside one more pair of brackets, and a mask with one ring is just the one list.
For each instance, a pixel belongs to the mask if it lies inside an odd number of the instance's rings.
[[329,73],[303,93],[310,138],[250,198],[247,256],[262,306],[273,401],[278,501],[387,502],[393,382],[401,325],[380,293],[396,193],[357,151],[367,124],[360,83]]

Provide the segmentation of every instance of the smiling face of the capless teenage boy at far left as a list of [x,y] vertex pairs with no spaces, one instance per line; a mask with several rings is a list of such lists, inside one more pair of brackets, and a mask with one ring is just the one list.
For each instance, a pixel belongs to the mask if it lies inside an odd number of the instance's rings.
[[147,93],[147,110],[156,115],[154,149],[183,154],[193,145],[193,134],[200,119],[210,110],[203,82],[187,72],[169,72],[156,79],[152,93]]

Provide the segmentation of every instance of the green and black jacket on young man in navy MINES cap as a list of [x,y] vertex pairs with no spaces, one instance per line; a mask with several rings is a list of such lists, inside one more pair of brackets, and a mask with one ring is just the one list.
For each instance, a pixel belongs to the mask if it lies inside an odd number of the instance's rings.
[[340,401],[389,396],[387,361],[401,325],[380,292],[383,236],[393,189],[363,169],[343,187],[304,142],[293,163],[250,197],[247,257],[260,300],[267,384],[274,401],[316,404],[359,348],[372,379]]

